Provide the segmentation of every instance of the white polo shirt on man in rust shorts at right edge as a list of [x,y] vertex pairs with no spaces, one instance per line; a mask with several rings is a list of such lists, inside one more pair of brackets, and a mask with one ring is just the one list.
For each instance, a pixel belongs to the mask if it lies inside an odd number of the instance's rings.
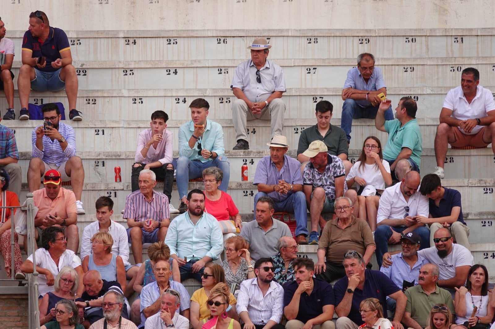
[[[474,96],[471,104],[464,97],[462,87],[458,86],[450,89],[445,97],[444,106],[446,109],[452,110],[451,117],[458,120],[485,118],[488,112],[495,110],[494,96],[492,92],[483,88],[481,85],[476,87],[476,96]],[[477,125],[467,133],[464,129],[457,127],[463,134],[474,135],[483,128],[482,125]]]

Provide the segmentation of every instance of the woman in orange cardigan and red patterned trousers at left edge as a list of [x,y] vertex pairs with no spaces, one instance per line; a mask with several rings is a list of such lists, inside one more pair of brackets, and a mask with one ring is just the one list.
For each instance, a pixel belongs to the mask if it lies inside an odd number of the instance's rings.
[[[7,171],[4,169],[0,169],[0,206],[19,206],[19,200],[17,198],[17,194],[14,192],[7,191],[8,182],[10,181],[10,176]],[[14,213],[15,213],[14,208]],[[10,213],[10,208],[0,209],[1,218],[0,218],[0,253],[3,256],[3,260],[5,262],[5,272],[7,272],[7,276],[11,278],[11,268],[12,264],[12,248],[10,247],[10,239],[11,239],[11,225],[12,225],[12,214]],[[22,256],[21,249],[17,243],[17,233],[14,232],[14,272],[15,279],[24,280],[26,276],[21,272],[22,265]]]

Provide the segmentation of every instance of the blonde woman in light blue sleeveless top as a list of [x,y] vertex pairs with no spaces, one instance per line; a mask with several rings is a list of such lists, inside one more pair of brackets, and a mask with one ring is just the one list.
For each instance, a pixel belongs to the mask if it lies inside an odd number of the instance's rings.
[[84,257],[83,271],[97,270],[101,279],[117,281],[125,291],[127,284],[122,257],[112,253],[113,238],[109,233],[97,232],[91,238],[92,254]]

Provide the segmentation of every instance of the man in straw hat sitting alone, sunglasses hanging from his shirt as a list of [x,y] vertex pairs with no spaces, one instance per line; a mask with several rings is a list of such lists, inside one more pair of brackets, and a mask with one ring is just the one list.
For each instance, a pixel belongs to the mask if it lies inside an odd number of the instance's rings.
[[266,39],[254,39],[247,47],[251,59],[239,64],[234,73],[230,88],[237,97],[232,102],[237,144],[233,150],[249,150],[247,120],[271,119],[271,137],[282,135],[285,78],[282,68],[267,59],[271,47]]

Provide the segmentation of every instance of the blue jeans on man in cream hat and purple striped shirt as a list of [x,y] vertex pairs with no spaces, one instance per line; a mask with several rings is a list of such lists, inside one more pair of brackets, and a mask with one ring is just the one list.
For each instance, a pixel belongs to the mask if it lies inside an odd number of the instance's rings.
[[[254,196],[254,220],[256,220],[256,203],[261,197],[268,197],[268,194],[258,192]],[[275,211],[288,211],[290,213],[294,213],[296,217],[296,236],[299,234],[304,234],[306,236],[308,235],[306,196],[303,192],[299,191],[293,193],[284,201],[275,202]]]

